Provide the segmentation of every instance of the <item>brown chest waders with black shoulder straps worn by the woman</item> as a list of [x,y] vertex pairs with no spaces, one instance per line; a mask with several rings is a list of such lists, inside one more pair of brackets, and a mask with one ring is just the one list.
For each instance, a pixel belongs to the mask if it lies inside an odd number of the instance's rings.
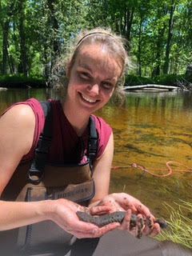
[[[51,142],[51,106],[50,102],[41,104],[46,119],[34,159],[17,167],[1,199],[34,202],[66,198],[86,206],[94,197],[92,170],[98,148],[98,133],[94,119],[90,117],[87,161],[83,164],[53,166],[47,162]],[[44,221],[0,232],[0,248],[1,251],[4,248],[5,256],[13,256],[13,252],[22,255],[27,254],[27,251],[46,253],[54,250],[62,250],[64,254],[69,250],[74,240],[72,238],[71,234],[66,233],[54,222]]]

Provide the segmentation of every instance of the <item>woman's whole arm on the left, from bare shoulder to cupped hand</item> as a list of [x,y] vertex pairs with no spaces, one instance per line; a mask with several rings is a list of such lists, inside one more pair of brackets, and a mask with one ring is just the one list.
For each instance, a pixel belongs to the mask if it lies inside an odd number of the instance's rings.
[[[0,118],[0,195],[34,139],[35,118],[30,106],[14,106]],[[106,206],[105,206],[106,207]],[[94,238],[113,229],[81,222],[76,214],[82,206],[66,199],[40,202],[0,201],[0,230],[10,230],[35,222],[51,220],[78,238]]]

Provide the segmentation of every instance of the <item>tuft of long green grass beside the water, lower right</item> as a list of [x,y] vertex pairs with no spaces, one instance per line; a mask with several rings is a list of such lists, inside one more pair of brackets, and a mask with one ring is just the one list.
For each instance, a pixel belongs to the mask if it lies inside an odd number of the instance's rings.
[[170,221],[167,221],[168,228],[162,230],[157,238],[160,241],[169,240],[192,249],[192,203],[182,201],[181,204],[175,204],[178,210],[166,204],[166,209],[170,212]]

